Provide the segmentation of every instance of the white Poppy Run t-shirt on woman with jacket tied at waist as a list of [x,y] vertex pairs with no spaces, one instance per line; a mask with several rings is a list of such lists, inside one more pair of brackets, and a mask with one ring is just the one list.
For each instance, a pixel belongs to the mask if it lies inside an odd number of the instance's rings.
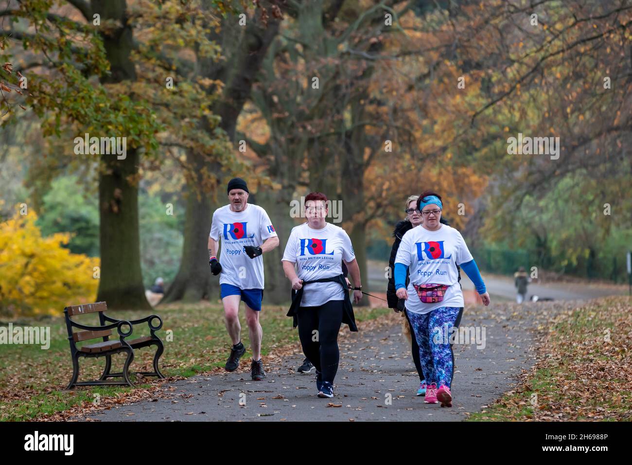
[[[312,229],[303,223],[292,228],[281,261],[295,263],[298,277],[311,281],[342,275],[343,259],[346,262],[355,259],[351,239],[343,228],[325,223],[322,229]],[[342,301],[344,292],[346,290],[336,282],[307,284],[303,288],[301,307]]]

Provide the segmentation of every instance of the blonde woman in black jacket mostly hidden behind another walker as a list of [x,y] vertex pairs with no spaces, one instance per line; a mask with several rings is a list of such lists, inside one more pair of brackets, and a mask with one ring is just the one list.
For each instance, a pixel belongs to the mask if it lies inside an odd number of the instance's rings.
[[[404,307],[404,299],[398,299],[395,294],[395,277],[394,277],[394,269],[395,269],[395,256],[397,255],[397,251],[399,249],[399,243],[401,242],[401,238],[404,237],[404,234],[410,231],[412,228],[419,226],[422,224],[422,214],[419,210],[417,210],[417,199],[419,195],[411,195],[406,199],[406,220],[399,221],[395,225],[395,229],[393,231],[393,237],[395,238],[393,242],[393,246],[391,249],[391,258],[389,259],[389,283],[386,290],[386,301],[388,302],[389,308],[392,308],[397,313],[403,311],[404,316],[406,316],[406,323],[409,328],[409,333],[411,334],[411,350],[413,352],[413,362],[415,363],[415,368],[417,369],[417,373],[419,375],[419,389],[417,390],[417,395],[425,395],[426,394],[426,384],[425,384],[425,376],[423,375],[422,364],[419,361],[419,345],[415,340],[415,335],[410,331],[410,319],[408,319],[408,314],[406,313],[406,309]],[[447,221],[441,218],[441,223],[447,225]],[[459,282],[461,282],[461,271],[459,270]],[[406,285],[408,286],[408,278],[406,278]]]

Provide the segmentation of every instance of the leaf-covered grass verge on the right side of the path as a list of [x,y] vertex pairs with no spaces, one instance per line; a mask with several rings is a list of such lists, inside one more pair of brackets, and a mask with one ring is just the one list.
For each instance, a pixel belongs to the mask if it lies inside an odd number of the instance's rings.
[[469,421],[629,421],[631,328],[629,297],[559,314],[538,337],[538,362],[520,385]]

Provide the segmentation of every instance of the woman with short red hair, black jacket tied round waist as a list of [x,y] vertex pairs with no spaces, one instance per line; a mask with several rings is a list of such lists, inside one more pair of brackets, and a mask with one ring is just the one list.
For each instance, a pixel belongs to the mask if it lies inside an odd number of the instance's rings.
[[307,222],[292,229],[282,259],[283,271],[296,290],[288,316],[293,316],[295,328],[298,325],[305,357],[316,368],[319,397],[334,396],[340,325],[346,323],[349,330],[358,330],[343,260],[355,285],[353,302],[362,299],[360,268],[351,239],[343,228],[325,221],[327,203],[327,196],[320,192],[305,197]]

